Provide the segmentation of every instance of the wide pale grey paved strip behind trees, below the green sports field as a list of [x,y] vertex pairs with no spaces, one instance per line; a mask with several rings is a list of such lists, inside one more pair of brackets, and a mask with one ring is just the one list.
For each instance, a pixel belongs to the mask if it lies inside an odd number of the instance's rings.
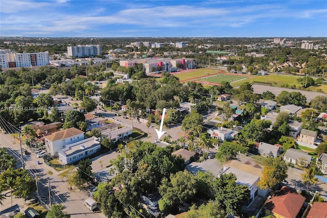
[[287,92],[300,92],[302,95],[305,95],[307,97],[307,102],[310,102],[313,98],[316,96],[327,96],[327,94],[319,93],[319,92],[310,92],[310,91],[303,91],[303,90],[293,90],[293,89],[286,89],[286,88],[278,88],[274,86],[267,86],[267,85],[252,85],[253,92],[256,94],[262,94],[263,92],[270,91],[275,96],[278,96],[281,94],[282,91],[287,91]]

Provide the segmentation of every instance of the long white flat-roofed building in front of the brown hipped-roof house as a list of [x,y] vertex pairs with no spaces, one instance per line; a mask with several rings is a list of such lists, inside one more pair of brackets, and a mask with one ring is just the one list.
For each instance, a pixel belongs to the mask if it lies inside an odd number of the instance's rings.
[[73,163],[100,151],[101,145],[96,137],[87,138],[58,151],[59,160],[64,164]]

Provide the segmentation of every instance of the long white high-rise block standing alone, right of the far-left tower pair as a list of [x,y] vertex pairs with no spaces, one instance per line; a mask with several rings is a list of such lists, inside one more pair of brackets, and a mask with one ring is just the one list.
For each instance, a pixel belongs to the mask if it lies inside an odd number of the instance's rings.
[[101,55],[100,45],[85,45],[85,46],[68,46],[68,56],[71,57],[95,57]]

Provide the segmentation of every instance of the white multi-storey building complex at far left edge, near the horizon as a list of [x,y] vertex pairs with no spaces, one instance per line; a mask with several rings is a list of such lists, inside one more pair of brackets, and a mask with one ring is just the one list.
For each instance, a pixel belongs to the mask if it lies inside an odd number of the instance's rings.
[[46,66],[49,64],[49,52],[16,53],[11,50],[0,51],[2,68],[21,68]]

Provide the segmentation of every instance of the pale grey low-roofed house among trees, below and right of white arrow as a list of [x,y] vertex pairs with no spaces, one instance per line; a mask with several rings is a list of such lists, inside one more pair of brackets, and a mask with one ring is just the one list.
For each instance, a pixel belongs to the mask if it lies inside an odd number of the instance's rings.
[[212,172],[215,177],[218,177],[223,170],[223,166],[217,161],[217,159],[207,159],[203,162],[192,162],[186,166],[186,170],[192,172],[194,175],[198,171],[201,172]]

